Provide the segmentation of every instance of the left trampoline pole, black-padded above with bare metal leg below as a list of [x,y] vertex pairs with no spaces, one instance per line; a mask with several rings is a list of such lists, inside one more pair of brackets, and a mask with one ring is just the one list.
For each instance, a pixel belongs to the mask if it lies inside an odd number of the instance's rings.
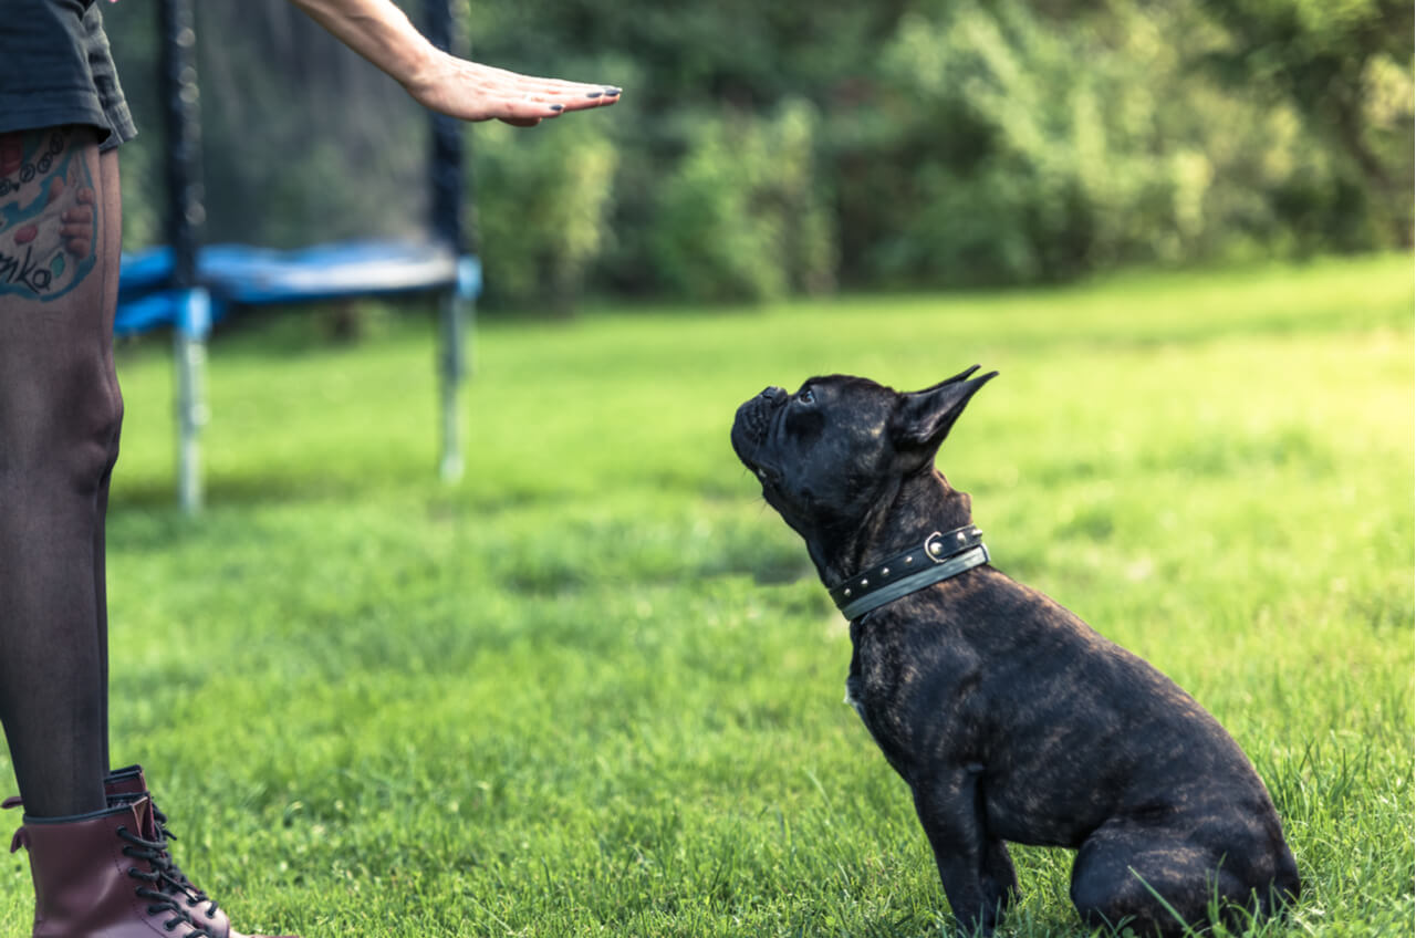
[[177,371],[177,497],[183,510],[201,507],[198,435],[207,419],[202,374],[207,360],[210,299],[197,279],[197,251],[205,220],[201,188],[201,122],[197,92],[197,28],[191,0],[159,0],[166,132],[167,244],[173,251],[171,288],[180,315],[174,330]]

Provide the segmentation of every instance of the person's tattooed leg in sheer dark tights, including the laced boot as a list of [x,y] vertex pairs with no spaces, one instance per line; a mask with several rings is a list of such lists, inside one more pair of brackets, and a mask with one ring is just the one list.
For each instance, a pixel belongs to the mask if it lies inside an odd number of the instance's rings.
[[[173,863],[142,771],[108,771],[120,205],[118,154],[95,140],[81,128],[0,135],[0,721],[24,803],[14,843],[47,935],[242,938]],[[118,876],[115,853],[127,857]]]

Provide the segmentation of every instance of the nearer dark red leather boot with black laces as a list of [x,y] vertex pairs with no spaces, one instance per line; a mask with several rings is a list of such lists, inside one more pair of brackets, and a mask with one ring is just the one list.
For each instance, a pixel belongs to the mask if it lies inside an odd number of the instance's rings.
[[10,844],[30,852],[34,938],[202,938],[171,891],[152,802],[74,818],[28,818]]

